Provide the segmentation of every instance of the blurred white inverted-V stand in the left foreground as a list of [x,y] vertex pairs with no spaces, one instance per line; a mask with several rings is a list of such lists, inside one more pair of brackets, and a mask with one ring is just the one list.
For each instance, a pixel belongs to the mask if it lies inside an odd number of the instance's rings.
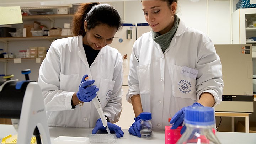
[[17,144],[29,144],[36,126],[41,134],[42,143],[50,144],[42,91],[37,82],[30,82],[22,103]]

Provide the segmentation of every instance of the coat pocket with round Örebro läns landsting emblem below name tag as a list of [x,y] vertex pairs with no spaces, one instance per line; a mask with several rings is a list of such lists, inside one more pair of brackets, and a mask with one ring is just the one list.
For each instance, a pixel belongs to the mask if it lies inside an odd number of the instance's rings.
[[182,67],[178,65],[174,65],[171,71],[172,95],[196,100],[196,79],[182,75]]

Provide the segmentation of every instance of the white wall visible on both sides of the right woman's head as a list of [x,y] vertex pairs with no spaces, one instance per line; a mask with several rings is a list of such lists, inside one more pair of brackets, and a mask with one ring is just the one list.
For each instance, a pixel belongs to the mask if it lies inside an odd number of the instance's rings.
[[[231,44],[230,1],[208,1],[207,8],[207,0],[199,2],[179,0],[177,15],[185,22],[186,26],[208,34],[214,44]],[[125,1],[123,3],[123,17],[126,23],[146,23],[140,1]],[[236,3],[234,1],[233,5],[235,6]]]

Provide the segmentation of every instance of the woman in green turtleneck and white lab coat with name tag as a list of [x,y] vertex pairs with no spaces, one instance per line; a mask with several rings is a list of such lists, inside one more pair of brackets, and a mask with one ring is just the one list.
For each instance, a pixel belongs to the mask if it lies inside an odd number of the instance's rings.
[[138,137],[142,112],[152,113],[152,129],[164,130],[168,118],[176,129],[185,107],[213,107],[222,101],[222,66],[213,42],[185,26],[176,15],[177,1],[142,1],[152,31],[133,45],[126,95],[136,116],[129,133]]

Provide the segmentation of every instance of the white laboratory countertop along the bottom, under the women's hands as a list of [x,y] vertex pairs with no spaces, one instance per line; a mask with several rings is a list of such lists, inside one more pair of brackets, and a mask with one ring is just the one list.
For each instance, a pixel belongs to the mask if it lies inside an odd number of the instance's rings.
[[[128,129],[122,129],[124,136],[117,139],[117,144],[164,144],[164,130],[153,130],[151,138],[139,138],[129,134]],[[49,127],[50,139],[54,144],[54,139],[59,136],[88,137],[92,128],[71,128],[71,127]],[[12,125],[0,125],[0,138],[9,134],[17,134]],[[256,133],[237,132],[216,132],[217,138],[222,144],[256,144]]]

